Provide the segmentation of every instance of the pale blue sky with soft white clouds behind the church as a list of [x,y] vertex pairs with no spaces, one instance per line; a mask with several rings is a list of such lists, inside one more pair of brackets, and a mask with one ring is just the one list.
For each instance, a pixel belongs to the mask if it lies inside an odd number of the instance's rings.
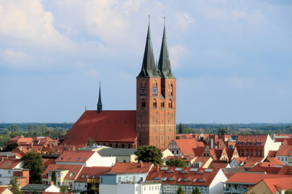
[[164,16],[176,123],[292,122],[291,1],[0,1],[0,122],[136,110],[148,15]]

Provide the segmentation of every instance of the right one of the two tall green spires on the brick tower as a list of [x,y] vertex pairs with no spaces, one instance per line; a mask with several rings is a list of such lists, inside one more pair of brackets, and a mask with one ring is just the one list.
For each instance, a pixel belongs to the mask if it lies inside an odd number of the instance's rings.
[[166,31],[165,31],[165,17],[164,17],[163,38],[162,38],[160,56],[159,56],[159,61],[158,61],[158,69],[160,71],[162,78],[175,78],[171,71],[171,65],[170,65],[169,54],[168,54]]

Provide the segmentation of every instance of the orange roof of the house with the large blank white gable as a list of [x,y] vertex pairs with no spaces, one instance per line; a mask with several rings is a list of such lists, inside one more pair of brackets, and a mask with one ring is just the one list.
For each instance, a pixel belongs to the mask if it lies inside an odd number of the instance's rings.
[[96,152],[92,151],[65,151],[63,152],[55,162],[86,162]]

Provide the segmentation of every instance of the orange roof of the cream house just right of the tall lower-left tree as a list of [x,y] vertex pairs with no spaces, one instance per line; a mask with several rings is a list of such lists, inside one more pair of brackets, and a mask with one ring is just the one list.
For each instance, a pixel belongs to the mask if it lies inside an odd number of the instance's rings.
[[68,169],[69,172],[65,175],[64,179],[75,179],[82,167],[83,165],[49,164],[47,169],[44,170],[41,178],[48,178],[49,171],[56,169]]

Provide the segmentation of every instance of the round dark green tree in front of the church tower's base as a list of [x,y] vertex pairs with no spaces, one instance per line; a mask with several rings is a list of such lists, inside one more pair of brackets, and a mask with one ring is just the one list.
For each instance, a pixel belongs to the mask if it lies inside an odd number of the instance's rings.
[[140,146],[136,152],[134,152],[134,155],[137,157],[135,158],[138,161],[142,162],[151,162],[154,165],[162,165],[162,157],[163,154],[160,149],[158,149],[155,146]]

